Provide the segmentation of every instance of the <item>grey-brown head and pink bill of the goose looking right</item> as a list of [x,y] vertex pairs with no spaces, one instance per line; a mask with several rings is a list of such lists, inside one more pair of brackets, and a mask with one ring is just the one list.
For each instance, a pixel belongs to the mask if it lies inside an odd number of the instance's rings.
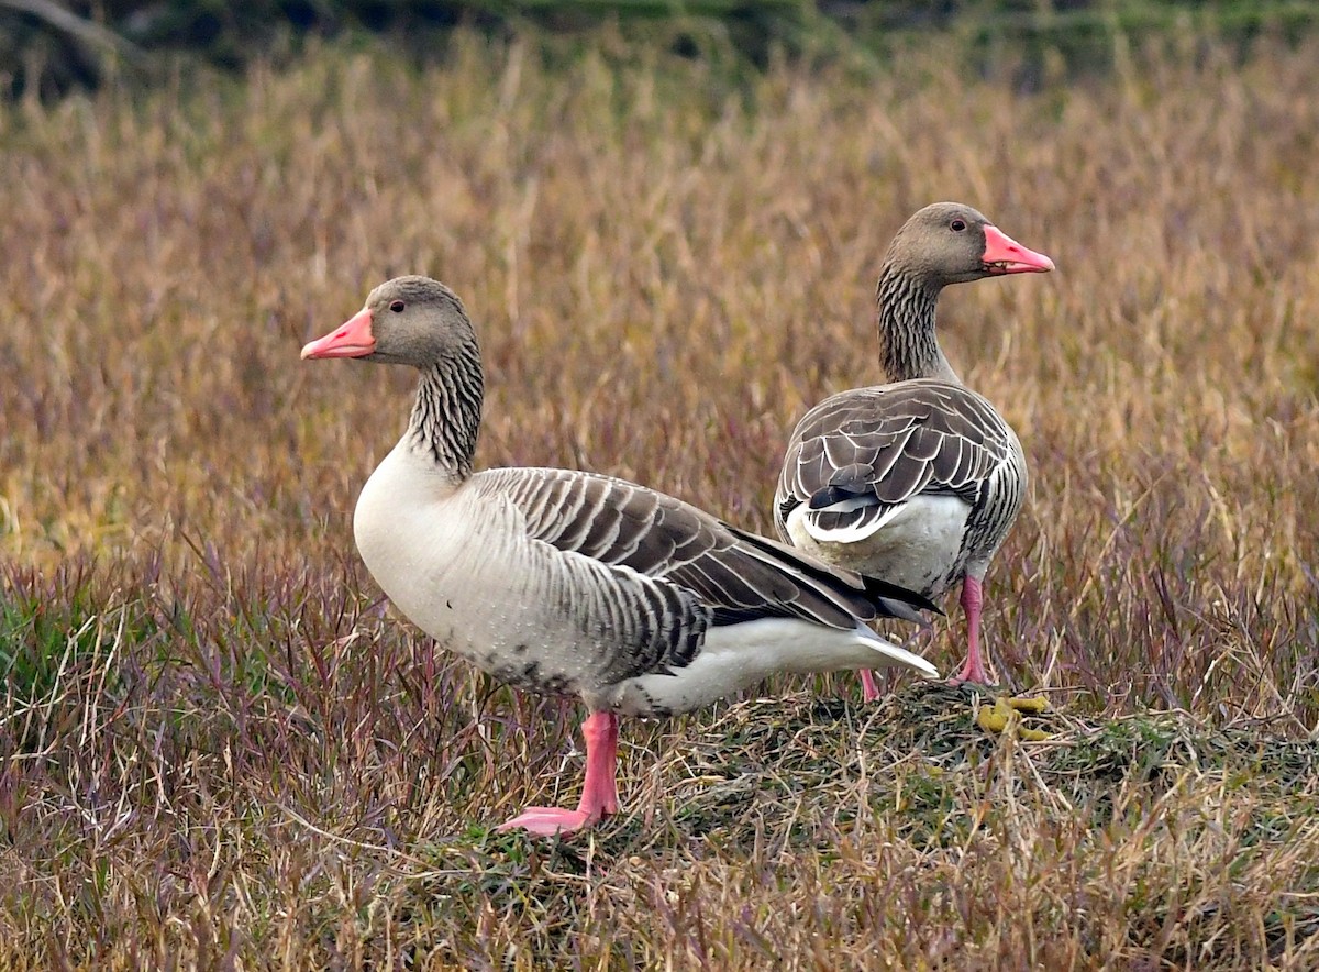
[[934,203],[909,219],[889,247],[886,264],[938,290],[1009,273],[1047,273],[1054,261],[1026,249],[963,203]]

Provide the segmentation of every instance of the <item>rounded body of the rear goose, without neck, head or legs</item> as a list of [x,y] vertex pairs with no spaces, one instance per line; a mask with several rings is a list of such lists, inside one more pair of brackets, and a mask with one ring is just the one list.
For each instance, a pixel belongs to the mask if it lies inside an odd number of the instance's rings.
[[1021,443],[983,396],[914,379],[842,392],[798,422],[774,521],[799,547],[934,597],[988,566],[1026,484]]

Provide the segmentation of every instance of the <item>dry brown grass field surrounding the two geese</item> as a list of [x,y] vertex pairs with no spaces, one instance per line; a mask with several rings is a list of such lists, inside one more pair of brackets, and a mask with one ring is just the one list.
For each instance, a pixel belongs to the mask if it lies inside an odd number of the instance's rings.
[[[1030,92],[938,38],[538,50],[0,108],[0,968],[1319,965],[1319,47]],[[625,724],[594,832],[496,835],[575,802],[579,710],[386,612],[351,510],[412,377],[301,343],[437,276],[483,464],[766,532],[935,199],[1059,266],[940,305],[1030,456],[985,636],[1049,737],[783,679]],[[951,617],[909,633],[942,670]]]

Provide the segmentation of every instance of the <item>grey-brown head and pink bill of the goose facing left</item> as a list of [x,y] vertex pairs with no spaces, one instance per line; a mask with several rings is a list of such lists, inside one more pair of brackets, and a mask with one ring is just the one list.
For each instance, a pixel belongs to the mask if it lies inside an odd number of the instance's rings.
[[396,277],[343,324],[302,348],[302,357],[360,357],[425,369],[466,357],[476,334],[458,294],[430,277]]

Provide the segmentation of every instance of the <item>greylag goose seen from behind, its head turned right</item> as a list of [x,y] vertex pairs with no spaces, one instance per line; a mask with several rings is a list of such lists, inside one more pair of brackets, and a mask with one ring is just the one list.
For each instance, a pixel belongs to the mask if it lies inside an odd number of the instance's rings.
[[[778,477],[776,526],[798,549],[931,599],[962,580],[967,661],[955,683],[989,681],[983,583],[1021,509],[1026,456],[944,357],[935,303],[948,284],[1051,269],[1049,257],[969,206],[935,203],[911,216],[877,288],[889,384],[842,392],[807,411]],[[861,679],[874,699],[873,678],[863,670]]]

